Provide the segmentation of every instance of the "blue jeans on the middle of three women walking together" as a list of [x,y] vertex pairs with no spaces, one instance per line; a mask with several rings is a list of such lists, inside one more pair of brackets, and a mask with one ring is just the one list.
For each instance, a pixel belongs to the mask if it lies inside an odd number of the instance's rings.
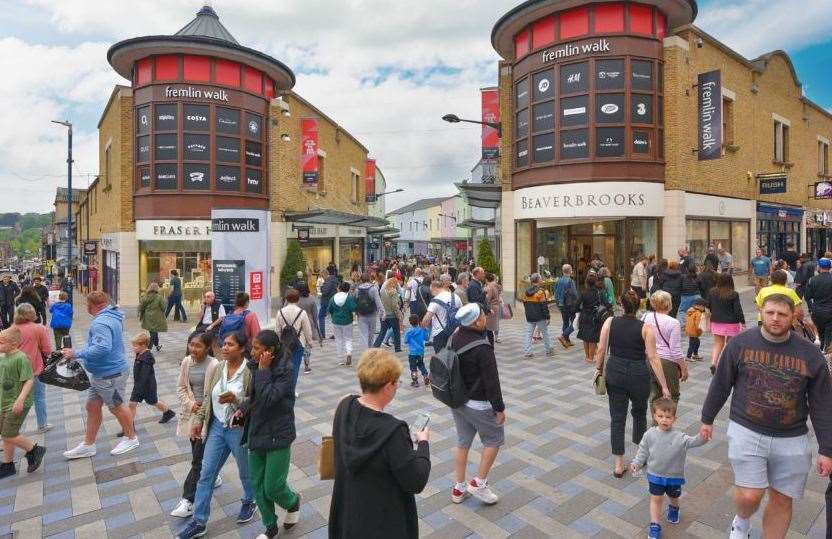
[[211,418],[202,454],[202,471],[199,473],[194,498],[194,520],[200,524],[207,523],[211,515],[214,481],[228,460],[228,455],[234,455],[237,462],[237,473],[240,474],[240,483],[243,485],[243,503],[254,501],[254,490],[248,477],[248,449],[240,445],[242,437],[243,429],[224,427],[216,417]]

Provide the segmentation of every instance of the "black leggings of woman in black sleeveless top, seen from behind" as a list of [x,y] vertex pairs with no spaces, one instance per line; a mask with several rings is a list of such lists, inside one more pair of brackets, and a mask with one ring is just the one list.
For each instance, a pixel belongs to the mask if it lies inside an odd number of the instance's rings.
[[610,405],[610,445],[613,455],[624,454],[627,408],[633,416],[633,443],[641,442],[647,430],[647,401],[650,397],[650,368],[646,360],[611,356],[604,368]]

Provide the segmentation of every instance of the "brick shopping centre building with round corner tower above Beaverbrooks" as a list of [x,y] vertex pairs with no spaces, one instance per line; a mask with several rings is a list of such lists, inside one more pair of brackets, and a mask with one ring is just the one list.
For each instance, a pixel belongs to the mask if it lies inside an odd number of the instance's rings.
[[[528,0],[499,19],[505,289],[598,254],[626,286],[641,255],[709,245],[748,270],[832,246],[832,115],[788,55],[747,59],[693,26],[694,0]],[[826,197],[826,198],[825,198]]]

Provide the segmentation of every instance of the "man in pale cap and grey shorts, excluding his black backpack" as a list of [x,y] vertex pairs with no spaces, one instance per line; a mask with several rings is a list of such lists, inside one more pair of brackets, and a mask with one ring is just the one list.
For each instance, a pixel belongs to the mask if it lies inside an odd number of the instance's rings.
[[[506,422],[497,360],[494,357],[494,347],[486,335],[485,313],[479,304],[469,303],[460,308],[456,319],[460,328],[448,340],[448,346],[454,350],[474,346],[459,355],[460,373],[469,400],[462,406],[451,409],[457,436],[454,466],[456,479],[451,488],[451,501],[462,503],[470,494],[483,503],[492,505],[497,503],[499,497],[488,485],[488,472],[505,442],[503,424]],[[466,483],[468,451],[477,434],[483,445],[480,466],[477,475]]]

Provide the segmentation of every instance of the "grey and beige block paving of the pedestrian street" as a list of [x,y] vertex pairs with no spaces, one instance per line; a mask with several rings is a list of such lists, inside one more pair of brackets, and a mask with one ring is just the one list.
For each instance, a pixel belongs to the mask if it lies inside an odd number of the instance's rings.
[[[753,320],[748,294],[744,302],[747,318]],[[77,307],[76,313],[84,313],[80,305]],[[81,343],[88,317],[79,314],[76,319],[73,338]],[[553,321],[553,325],[557,324]],[[189,327],[171,323],[171,331],[162,335],[163,350],[157,354],[160,397],[174,409],[178,365]],[[137,330],[137,321],[131,318],[126,333]],[[522,359],[524,332],[520,320],[504,322],[502,343],[497,345],[508,415],[507,443],[490,475],[493,488],[501,496],[497,505],[485,507],[472,499],[460,505],[450,503],[453,421],[429,391],[411,388],[403,380],[389,411],[405,420],[420,410],[433,414],[433,469],[427,487],[418,496],[421,536],[644,536],[648,520],[645,480],[629,475],[624,479],[612,477],[607,400],[592,391],[592,367],[584,363],[581,347],[568,352],[558,347],[556,357],[544,358],[538,344],[534,359]],[[702,353],[707,356],[709,352],[710,341],[706,338]],[[406,363],[406,356],[400,356]],[[332,485],[317,479],[317,449],[321,435],[330,432],[339,397],[358,390],[354,370],[337,366],[332,341],[314,350],[312,365],[313,373],[301,375],[299,382],[301,395],[295,410],[298,439],[289,475],[305,504],[301,523],[291,532],[281,533],[281,537],[326,537]],[[677,425],[693,433],[699,426],[700,406],[710,379],[708,362],[693,363],[690,370],[690,380],[682,389]],[[61,452],[83,436],[84,395],[49,387],[47,400],[54,430],[45,436],[34,434],[31,412],[24,432],[49,452],[44,466],[31,477],[24,467],[16,477],[0,482],[0,536],[149,539],[171,537],[182,527],[183,520],[168,515],[181,495],[190,459],[188,441],[175,436],[175,421],[159,425],[158,412],[140,406],[136,419],[140,448],[113,457],[109,450],[117,441],[119,428],[105,412],[98,454],[92,459],[67,462]],[[727,406],[716,423],[714,440],[689,455],[681,522],[665,525],[666,537],[727,537],[733,504],[726,413]],[[472,458],[478,458],[477,443]],[[628,459],[634,450],[635,446],[628,443]],[[473,469],[472,465],[469,472]],[[246,526],[235,522],[241,495],[236,475],[233,462],[226,464],[225,482],[215,491],[212,502],[210,537],[250,538],[261,529],[259,521]],[[824,536],[826,484],[814,472],[810,474],[806,496],[795,505],[790,538]],[[755,537],[759,537],[759,515],[754,528]]]

